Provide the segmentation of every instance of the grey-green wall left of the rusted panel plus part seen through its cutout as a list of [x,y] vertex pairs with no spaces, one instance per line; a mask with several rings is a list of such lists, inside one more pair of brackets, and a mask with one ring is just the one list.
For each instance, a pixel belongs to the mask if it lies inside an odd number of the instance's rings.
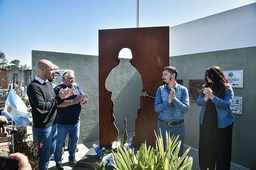
[[[48,59],[60,70],[75,71],[75,82],[89,95],[82,106],[79,143],[99,140],[99,61],[98,56],[32,51],[33,79],[37,73],[36,64],[40,59]],[[106,80],[106,87],[112,91],[115,124],[119,134],[124,134],[124,119],[127,119],[127,132],[134,132],[137,109],[140,107],[142,78],[131,66],[130,59],[121,59]],[[107,64],[107,63],[106,63]],[[72,113],[71,113],[72,116]]]

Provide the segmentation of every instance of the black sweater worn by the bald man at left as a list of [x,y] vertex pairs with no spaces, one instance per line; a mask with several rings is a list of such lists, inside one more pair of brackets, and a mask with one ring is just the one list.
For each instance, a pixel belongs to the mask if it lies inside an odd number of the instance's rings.
[[[41,84],[37,80],[33,80],[27,88],[29,103],[32,109],[33,127],[48,128],[55,123],[57,105],[63,100],[55,95],[51,83]],[[48,110],[49,112],[42,114],[38,110]]]

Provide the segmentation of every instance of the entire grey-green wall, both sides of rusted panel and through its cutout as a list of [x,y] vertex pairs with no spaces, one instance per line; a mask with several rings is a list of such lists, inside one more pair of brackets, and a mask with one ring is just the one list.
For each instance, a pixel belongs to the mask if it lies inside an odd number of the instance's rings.
[[[76,83],[88,92],[88,104],[82,107],[81,129],[79,143],[99,139],[99,74],[98,56],[56,53],[47,51],[32,51],[33,78],[36,75],[36,63],[40,59],[48,59],[60,69],[75,71]],[[205,69],[211,65],[220,66],[223,70],[244,70],[243,88],[233,88],[235,96],[243,97],[242,115],[235,114],[233,129],[232,162],[254,169],[256,162],[256,47],[213,51],[183,56],[170,57],[170,65],[178,69],[178,79],[189,87],[190,79],[203,79]],[[141,76],[130,65],[128,59],[121,59],[119,65],[111,71],[106,86],[112,93],[115,102],[115,124],[119,134],[123,134],[123,119],[128,118],[128,133],[134,132],[134,122],[137,117],[139,98],[142,89]],[[190,110],[185,117],[185,144],[198,148],[199,142],[199,112],[194,102],[190,102]],[[129,115],[129,116],[127,116]]]

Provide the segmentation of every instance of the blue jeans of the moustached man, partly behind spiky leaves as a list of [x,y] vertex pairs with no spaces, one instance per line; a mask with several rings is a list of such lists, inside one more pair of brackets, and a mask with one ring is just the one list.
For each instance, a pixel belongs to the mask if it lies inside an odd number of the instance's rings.
[[183,155],[183,144],[184,144],[184,139],[185,139],[185,124],[184,122],[181,124],[177,124],[175,126],[169,126],[168,124],[164,123],[164,122],[157,122],[157,133],[160,135],[160,129],[161,129],[161,134],[163,137],[163,142],[164,142],[164,150],[165,150],[165,144],[166,144],[166,132],[170,133],[170,137],[171,136],[178,136],[180,135],[179,140],[181,140],[181,145],[180,145],[180,151],[178,153],[178,156],[182,156]]

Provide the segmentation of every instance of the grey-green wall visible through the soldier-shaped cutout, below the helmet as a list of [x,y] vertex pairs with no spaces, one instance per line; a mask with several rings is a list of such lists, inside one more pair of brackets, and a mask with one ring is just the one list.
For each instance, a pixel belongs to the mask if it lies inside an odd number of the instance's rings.
[[135,131],[135,119],[140,107],[140,94],[143,89],[140,73],[131,66],[129,60],[120,58],[119,65],[111,70],[106,80],[107,89],[112,91],[115,124],[119,134],[125,132],[125,118],[127,132]]

